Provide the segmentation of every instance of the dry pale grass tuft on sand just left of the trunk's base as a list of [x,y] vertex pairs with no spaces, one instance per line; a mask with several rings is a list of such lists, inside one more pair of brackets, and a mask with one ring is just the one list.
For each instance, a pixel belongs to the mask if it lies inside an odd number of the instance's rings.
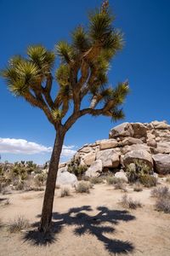
[[10,233],[18,233],[29,227],[29,221],[24,216],[18,216],[8,224]]

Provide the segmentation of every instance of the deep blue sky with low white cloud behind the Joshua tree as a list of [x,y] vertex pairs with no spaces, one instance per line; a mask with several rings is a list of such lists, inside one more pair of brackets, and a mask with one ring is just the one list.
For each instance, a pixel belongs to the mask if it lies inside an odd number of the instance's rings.
[[[54,49],[54,44],[68,39],[77,25],[88,24],[88,10],[100,3],[99,0],[0,0],[0,68],[12,55],[25,54],[29,44],[44,44]],[[170,123],[170,1],[110,0],[110,3],[116,14],[115,26],[122,29],[126,40],[125,48],[111,63],[109,74],[110,84],[125,79],[130,83],[123,121],[166,119]],[[49,160],[54,143],[53,126],[41,110],[12,96],[3,79],[0,79],[0,109],[2,160],[34,160],[39,164]],[[84,143],[107,138],[111,127],[119,123],[111,123],[104,117],[79,119],[65,137],[62,160]]]

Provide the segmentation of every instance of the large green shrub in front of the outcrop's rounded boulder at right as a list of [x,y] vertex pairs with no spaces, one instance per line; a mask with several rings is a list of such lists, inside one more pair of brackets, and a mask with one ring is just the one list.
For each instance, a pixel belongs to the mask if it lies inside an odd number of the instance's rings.
[[150,167],[142,160],[134,160],[133,163],[127,166],[127,178],[129,183],[140,181],[140,177],[152,174]]

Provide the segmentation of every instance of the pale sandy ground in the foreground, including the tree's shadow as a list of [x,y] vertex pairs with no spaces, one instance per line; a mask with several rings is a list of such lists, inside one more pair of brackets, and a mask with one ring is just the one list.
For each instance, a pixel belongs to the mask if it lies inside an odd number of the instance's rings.
[[[134,192],[127,186],[127,195],[142,202],[137,210],[125,210],[118,203],[123,192],[106,184],[96,184],[88,195],[71,192],[54,198],[54,233],[46,243],[35,228],[30,232],[9,234],[0,229],[0,255],[170,255],[170,214],[156,212],[150,189]],[[42,209],[43,192],[26,192],[8,197],[10,204],[0,206],[3,223],[24,215],[36,226]],[[35,230],[35,231],[34,231]],[[44,240],[43,240],[44,241]]]

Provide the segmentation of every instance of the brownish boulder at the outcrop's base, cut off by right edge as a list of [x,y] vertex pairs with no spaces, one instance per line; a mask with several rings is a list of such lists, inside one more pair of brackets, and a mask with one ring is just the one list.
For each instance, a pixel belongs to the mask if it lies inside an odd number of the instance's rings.
[[155,171],[160,174],[170,173],[170,155],[169,154],[154,154],[152,155],[154,160]]

